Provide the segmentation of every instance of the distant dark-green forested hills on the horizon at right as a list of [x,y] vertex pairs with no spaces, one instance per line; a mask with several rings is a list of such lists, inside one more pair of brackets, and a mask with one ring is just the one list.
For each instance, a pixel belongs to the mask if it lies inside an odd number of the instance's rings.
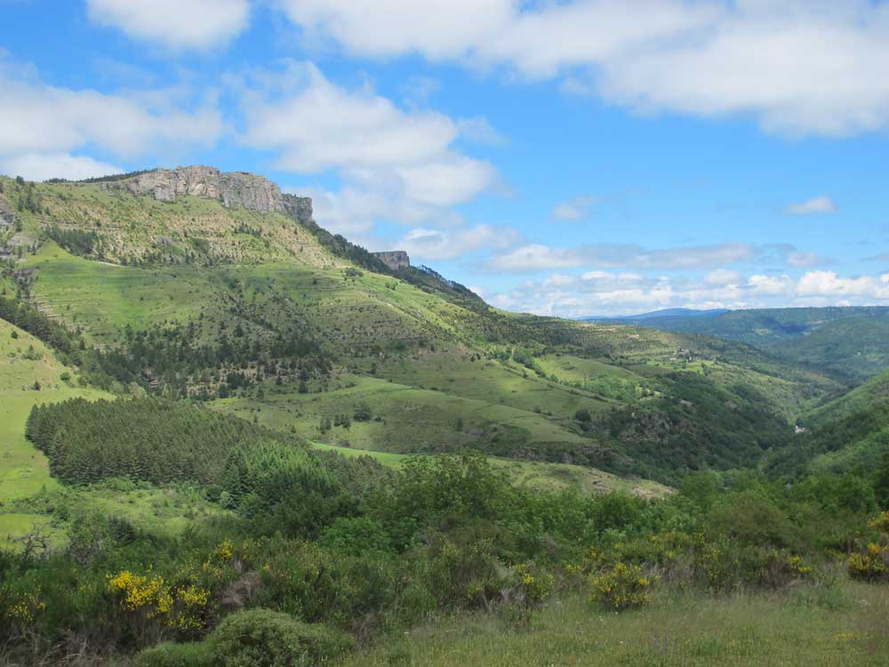
[[889,308],[885,307],[733,310],[625,322],[747,343],[843,382],[863,382],[889,366]]

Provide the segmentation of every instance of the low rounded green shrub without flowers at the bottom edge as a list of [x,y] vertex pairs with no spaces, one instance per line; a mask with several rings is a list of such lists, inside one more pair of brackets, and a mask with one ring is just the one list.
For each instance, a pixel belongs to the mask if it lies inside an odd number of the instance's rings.
[[344,654],[353,643],[343,632],[268,609],[228,616],[210,640],[224,667],[308,667]]

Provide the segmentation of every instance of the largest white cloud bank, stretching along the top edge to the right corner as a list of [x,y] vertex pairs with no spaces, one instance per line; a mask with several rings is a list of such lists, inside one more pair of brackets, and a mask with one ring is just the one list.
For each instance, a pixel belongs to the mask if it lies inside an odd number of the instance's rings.
[[889,7],[869,0],[277,4],[315,40],[361,56],[559,77],[643,112],[749,115],[789,135],[889,126]]

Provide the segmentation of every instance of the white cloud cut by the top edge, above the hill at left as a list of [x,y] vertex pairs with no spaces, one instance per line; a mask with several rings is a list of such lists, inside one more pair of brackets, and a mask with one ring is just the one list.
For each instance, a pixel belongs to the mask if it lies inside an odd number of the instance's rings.
[[167,48],[224,44],[250,21],[248,0],[86,0],[93,23]]

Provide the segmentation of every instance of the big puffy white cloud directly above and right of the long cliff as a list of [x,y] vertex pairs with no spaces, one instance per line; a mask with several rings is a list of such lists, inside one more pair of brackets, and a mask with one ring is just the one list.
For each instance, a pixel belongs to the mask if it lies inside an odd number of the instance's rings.
[[[498,180],[486,160],[462,154],[461,138],[493,141],[484,119],[454,120],[436,111],[400,108],[368,86],[347,89],[315,65],[289,61],[282,70],[233,82],[244,99],[242,141],[276,154],[292,173],[339,173],[338,192],[322,195],[340,228],[378,217],[404,224],[450,218],[448,211]],[[319,214],[319,220],[327,221]]]

